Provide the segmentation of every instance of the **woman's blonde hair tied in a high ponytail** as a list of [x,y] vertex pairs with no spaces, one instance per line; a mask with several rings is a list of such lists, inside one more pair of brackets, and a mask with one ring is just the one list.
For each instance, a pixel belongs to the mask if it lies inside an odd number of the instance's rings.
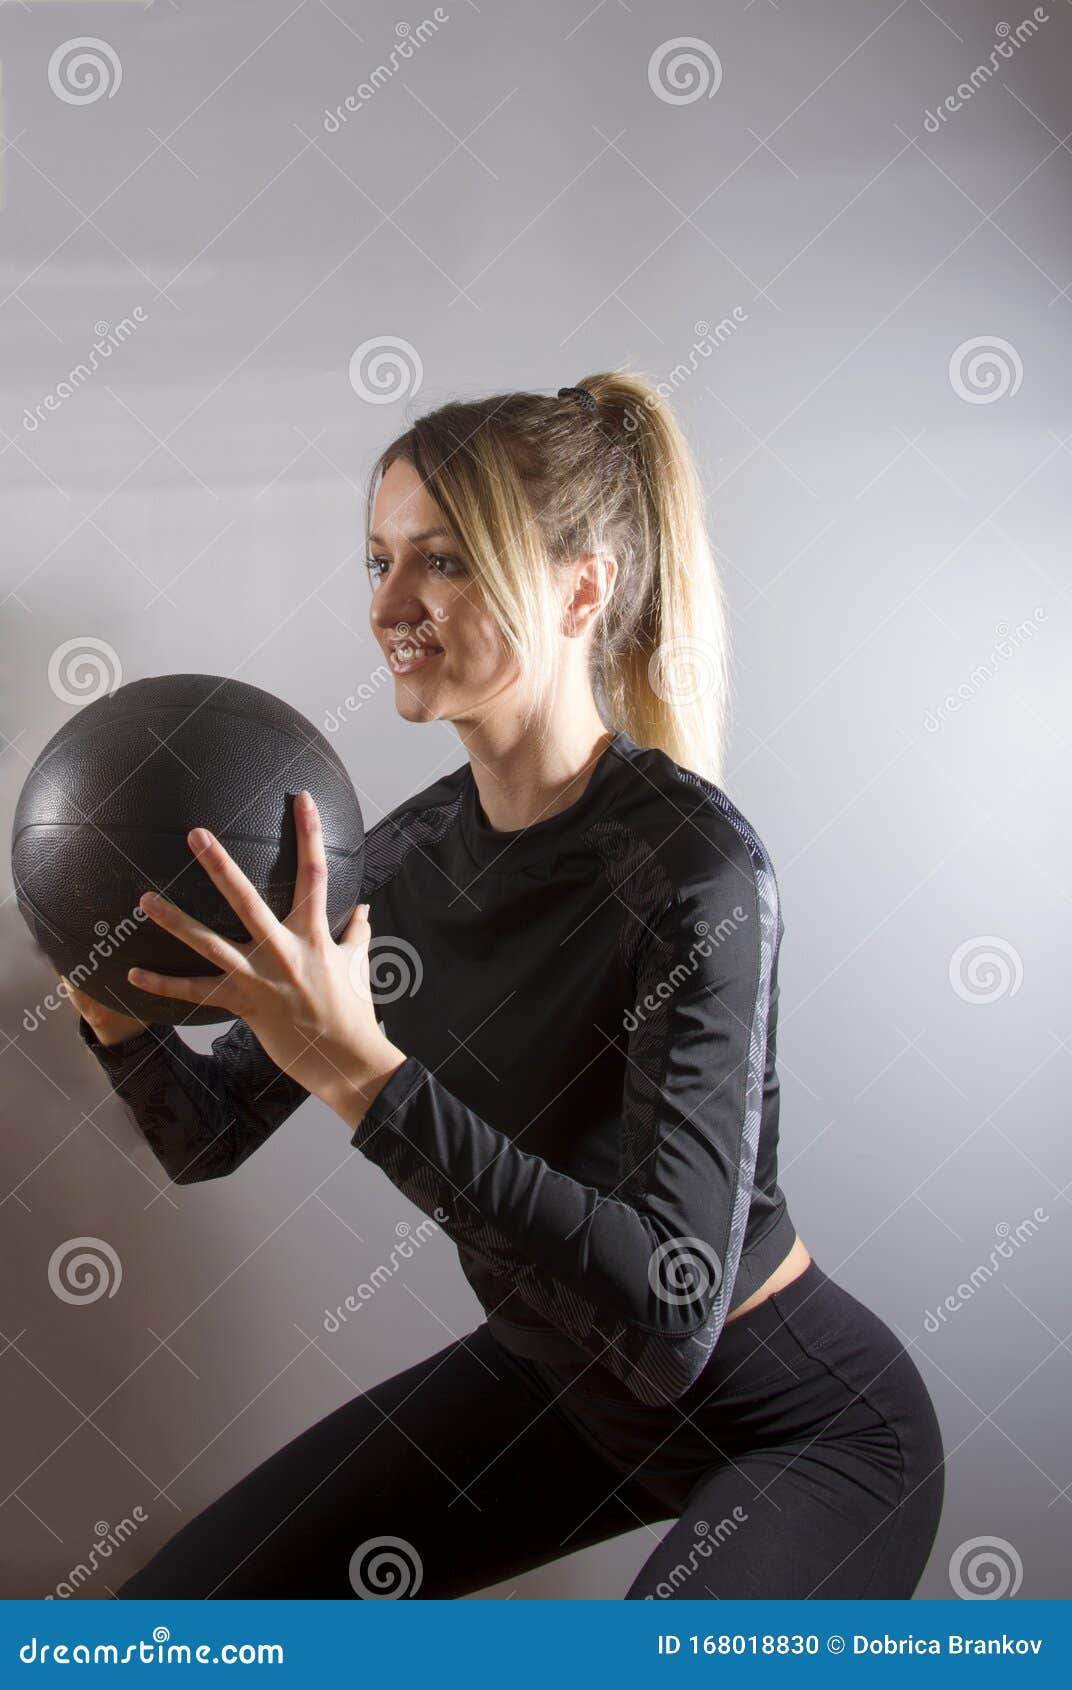
[[473,583],[543,718],[560,637],[555,566],[610,553],[617,576],[590,651],[609,727],[722,779],[729,630],[703,492],[666,401],[631,370],[580,384],[597,401],[511,392],[451,401],[379,456],[369,488],[413,463],[465,546]]

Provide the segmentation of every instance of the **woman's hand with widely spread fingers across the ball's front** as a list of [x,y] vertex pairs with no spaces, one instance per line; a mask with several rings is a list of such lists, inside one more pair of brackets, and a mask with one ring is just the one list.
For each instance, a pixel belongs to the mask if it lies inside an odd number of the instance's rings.
[[188,843],[250,941],[223,940],[167,899],[145,892],[140,897],[145,914],[225,973],[188,979],[130,968],[127,979],[144,992],[188,1004],[211,1002],[238,1016],[277,1068],[357,1126],[406,1056],[375,1021],[369,987],[369,906],[357,906],[338,943],[331,938],[320,811],[306,791],[294,799],[294,825],[298,879],[284,921],[272,914],[220,842],[205,828],[194,828]]

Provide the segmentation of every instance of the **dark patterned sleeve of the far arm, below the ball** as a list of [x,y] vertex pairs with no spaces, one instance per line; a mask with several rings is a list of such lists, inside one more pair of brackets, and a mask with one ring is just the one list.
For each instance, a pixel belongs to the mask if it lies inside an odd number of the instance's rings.
[[210,1056],[167,1022],[120,1044],[101,1044],[85,1016],[78,1031],[176,1185],[233,1173],[309,1095],[243,1021],[213,1039]]

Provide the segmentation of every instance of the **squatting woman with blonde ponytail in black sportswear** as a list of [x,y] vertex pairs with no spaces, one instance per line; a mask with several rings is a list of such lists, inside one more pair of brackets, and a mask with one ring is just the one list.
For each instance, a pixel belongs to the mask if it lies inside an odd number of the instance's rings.
[[[377,465],[369,570],[399,713],[468,762],[372,828],[338,945],[306,794],[282,923],[194,830],[250,943],[145,904],[225,972],[132,979],[240,1019],[211,1056],[86,997],[79,1031],[183,1185],[320,1097],[487,1320],[120,1595],[460,1597],[671,1519],[629,1597],[910,1597],[942,1438],[778,1186],[783,923],[715,784],[727,644],[680,428],[629,373],[443,406]],[[374,931],[411,967],[382,1026]]]

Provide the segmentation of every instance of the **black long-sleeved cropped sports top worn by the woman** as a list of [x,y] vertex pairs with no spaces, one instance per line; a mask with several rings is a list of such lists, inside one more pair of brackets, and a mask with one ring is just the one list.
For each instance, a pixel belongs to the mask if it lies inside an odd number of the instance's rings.
[[[435,1215],[495,1337],[663,1404],[788,1254],[774,870],[725,793],[619,732],[517,833],[468,762],[367,837],[372,995],[406,1061],[352,1136]],[[233,1173],[308,1092],[245,1022],[101,1046],[178,1185]]]

